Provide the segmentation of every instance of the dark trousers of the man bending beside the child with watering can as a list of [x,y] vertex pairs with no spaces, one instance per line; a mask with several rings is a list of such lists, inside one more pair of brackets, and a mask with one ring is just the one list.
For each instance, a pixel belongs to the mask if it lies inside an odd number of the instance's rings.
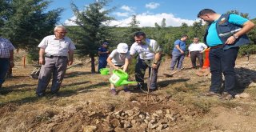
[[146,68],[149,68],[149,78],[150,78],[150,73],[152,70],[152,78],[151,78],[151,84],[150,84],[150,89],[154,90],[157,88],[157,80],[158,80],[158,68],[160,66],[160,63],[158,63],[158,66],[156,69],[151,68],[148,66],[150,64],[150,61],[147,60],[142,60],[138,58],[138,61],[135,66],[135,79],[138,83],[140,83],[142,86],[144,85],[144,75],[146,73]]

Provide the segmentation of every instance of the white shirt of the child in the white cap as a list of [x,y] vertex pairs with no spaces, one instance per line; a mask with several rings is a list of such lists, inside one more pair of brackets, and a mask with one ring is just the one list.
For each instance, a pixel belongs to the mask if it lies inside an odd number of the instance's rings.
[[128,51],[126,54],[120,54],[118,53],[118,50],[113,50],[109,56],[111,59],[111,62],[113,62],[114,65],[124,65],[126,62],[126,58],[130,59],[130,52]]

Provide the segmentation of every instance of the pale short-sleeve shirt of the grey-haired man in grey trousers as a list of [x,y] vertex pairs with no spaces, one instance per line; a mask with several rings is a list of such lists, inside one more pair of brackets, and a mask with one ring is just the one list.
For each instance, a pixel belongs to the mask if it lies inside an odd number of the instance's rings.
[[46,54],[54,56],[68,56],[68,51],[75,49],[74,43],[70,38],[57,39],[55,35],[43,38],[38,47],[45,49]]

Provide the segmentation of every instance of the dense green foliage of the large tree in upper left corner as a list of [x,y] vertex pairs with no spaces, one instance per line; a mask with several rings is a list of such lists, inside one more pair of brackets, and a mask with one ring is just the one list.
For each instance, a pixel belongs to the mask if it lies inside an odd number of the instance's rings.
[[53,33],[62,12],[62,9],[46,12],[50,4],[46,0],[12,0],[3,4],[6,8],[1,6],[0,10],[1,35],[9,38],[16,48],[26,49],[29,54],[38,49],[42,38]]

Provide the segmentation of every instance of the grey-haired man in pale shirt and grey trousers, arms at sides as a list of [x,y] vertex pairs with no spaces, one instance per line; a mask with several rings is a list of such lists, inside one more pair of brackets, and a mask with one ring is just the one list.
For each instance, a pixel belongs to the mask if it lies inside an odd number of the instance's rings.
[[38,77],[38,97],[45,95],[46,88],[53,74],[50,93],[58,96],[58,90],[66,73],[66,67],[73,64],[74,43],[66,37],[66,28],[56,26],[54,35],[46,36],[39,43],[39,64],[41,70]]

